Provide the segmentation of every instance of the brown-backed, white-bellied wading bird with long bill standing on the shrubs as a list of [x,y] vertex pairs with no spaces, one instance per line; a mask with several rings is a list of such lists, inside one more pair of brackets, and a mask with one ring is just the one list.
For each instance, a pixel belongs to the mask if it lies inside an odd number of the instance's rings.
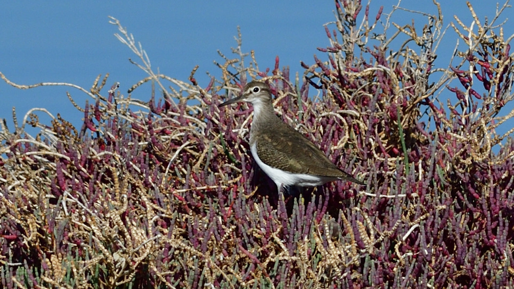
[[253,106],[250,151],[257,165],[277,185],[279,193],[290,186],[317,187],[338,179],[365,185],[334,165],[313,142],[274,113],[271,90],[266,83],[251,81],[241,96],[218,107],[237,102],[249,102]]

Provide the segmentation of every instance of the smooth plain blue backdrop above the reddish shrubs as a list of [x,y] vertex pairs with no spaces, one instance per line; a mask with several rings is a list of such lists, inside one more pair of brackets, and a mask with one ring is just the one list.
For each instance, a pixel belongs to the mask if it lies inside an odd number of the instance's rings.
[[[446,2],[442,4],[445,25],[453,21],[453,14],[471,23],[465,1]],[[492,19],[494,2],[471,2],[481,21],[484,16]],[[397,3],[372,1],[370,15],[376,15],[380,5],[389,13]],[[436,11],[431,1],[403,1],[401,6]],[[68,82],[86,89],[98,74],[109,73],[108,86],[118,81],[126,95],[127,89],[146,75],[128,61],[135,55],[114,37],[118,30],[108,23],[111,15],[141,42],[154,71],[158,68],[173,78],[187,80],[191,69],[199,65],[196,78],[200,85],[207,85],[205,72],[217,75],[213,61],[223,61],[216,50],[229,55],[236,46],[237,26],[241,27],[243,49],[255,50],[261,69],[272,67],[279,56],[281,66],[288,65],[294,75],[302,69],[300,61],[313,63],[313,54],[322,54],[316,47],[327,46],[323,24],[334,20],[333,10],[333,1],[4,2],[0,9],[0,71],[18,84]],[[513,12],[509,8],[502,19]],[[401,25],[410,24],[413,18],[417,25],[426,21],[419,17],[397,11],[393,21]],[[504,27],[506,35],[513,33],[510,20]],[[456,39],[449,28],[438,61],[451,55]],[[20,120],[32,107],[45,107],[80,127],[83,115],[70,104],[66,91],[80,105],[85,103],[87,97],[71,87],[22,91],[0,81],[0,118],[7,119],[12,131],[13,106]],[[133,97],[148,100],[149,92],[149,87],[138,89]]]

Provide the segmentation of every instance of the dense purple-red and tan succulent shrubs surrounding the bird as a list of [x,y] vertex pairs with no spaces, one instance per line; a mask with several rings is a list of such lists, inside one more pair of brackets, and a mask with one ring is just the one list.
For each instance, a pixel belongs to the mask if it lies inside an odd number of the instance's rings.
[[[434,67],[440,11],[416,30],[382,8],[335,4],[329,46],[300,73],[278,57],[260,70],[239,35],[207,85],[196,68],[187,81],[153,73],[112,19],[147,78],[127,94],[105,87],[108,76],[77,87],[90,97],[81,106],[68,94],[81,128],[36,112],[2,125],[3,287],[514,286],[514,142],[512,130],[497,134],[514,114],[502,111],[509,40],[470,6],[474,28],[451,24],[469,45]],[[398,35],[407,40],[394,46]],[[276,113],[366,186],[278,196],[249,153],[251,108],[217,107],[251,79],[270,84]],[[133,99],[148,82],[150,101]]]

